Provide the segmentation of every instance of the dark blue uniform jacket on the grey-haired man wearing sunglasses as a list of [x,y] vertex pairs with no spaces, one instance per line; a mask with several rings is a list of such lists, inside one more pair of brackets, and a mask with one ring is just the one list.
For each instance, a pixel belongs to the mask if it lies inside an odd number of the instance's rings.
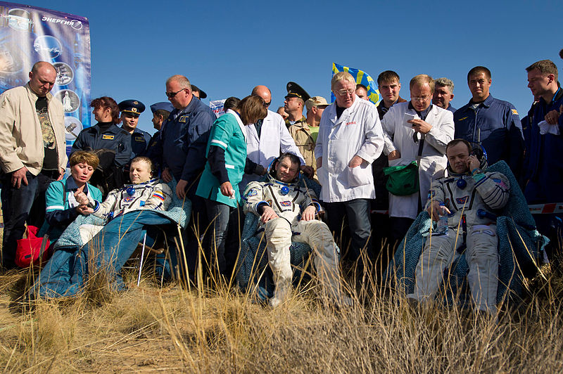
[[[163,123],[163,168],[168,167],[177,181],[183,179],[190,186],[203,170],[205,148],[216,119],[213,110],[194,97],[186,108],[172,110]],[[192,193],[196,188],[193,183]]]

